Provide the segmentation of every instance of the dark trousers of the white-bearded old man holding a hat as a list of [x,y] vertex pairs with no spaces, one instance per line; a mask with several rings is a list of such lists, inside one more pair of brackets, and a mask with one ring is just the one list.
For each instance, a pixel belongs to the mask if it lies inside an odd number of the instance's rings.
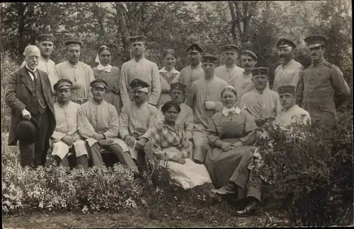
[[49,149],[48,134],[49,128],[49,109],[47,108],[43,114],[30,114],[40,126],[40,134],[35,143],[23,143],[20,141],[20,163],[21,166],[45,166],[47,160],[47,151]]

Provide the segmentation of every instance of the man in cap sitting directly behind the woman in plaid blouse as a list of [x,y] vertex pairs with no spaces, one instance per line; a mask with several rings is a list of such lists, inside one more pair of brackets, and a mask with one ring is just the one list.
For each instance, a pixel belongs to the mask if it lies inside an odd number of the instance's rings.
[[[193,128],[194,128],[194,117],[193,110],[183,103],[185,99],[185,85],[182,83],[171,83],[170,84],[170,95],[172,101],[179,105],[181,112],[179,112],[176,119],[176,124],[185,130],[185,136],[189,140],[190,146],[190,160],[193,160]],[[162,105],[161,105],[162,107]],[[164,122],[164,114],[162,113],[161,107],[159,107],[159,112],[156,117],[156,124]]]

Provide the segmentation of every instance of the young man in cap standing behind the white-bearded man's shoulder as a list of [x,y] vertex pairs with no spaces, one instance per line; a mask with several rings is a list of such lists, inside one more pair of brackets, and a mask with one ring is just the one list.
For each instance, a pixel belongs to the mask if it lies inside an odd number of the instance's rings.
[[[38,61],[37,68],[48,74],[50,85],[53,89],[53,86],[59,80],[55,62],[50,59],[54,48],[54,36],[50,33],[38,35],[35,44],[40,49],[40,60]],[[21,67],[23,66],[25,66],[25,61],[23,61]]]

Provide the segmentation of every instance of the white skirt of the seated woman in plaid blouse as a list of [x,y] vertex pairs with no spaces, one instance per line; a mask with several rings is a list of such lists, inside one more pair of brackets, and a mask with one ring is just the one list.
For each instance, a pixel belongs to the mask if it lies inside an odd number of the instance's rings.
[[205,165],[194,163],[193,160],[188,158],[185,158],[183,165],[172,161],[168,161],[166,165],[169,168],[171,180],[183,187],[183,189],[191,189],[201,184],[212,183]]

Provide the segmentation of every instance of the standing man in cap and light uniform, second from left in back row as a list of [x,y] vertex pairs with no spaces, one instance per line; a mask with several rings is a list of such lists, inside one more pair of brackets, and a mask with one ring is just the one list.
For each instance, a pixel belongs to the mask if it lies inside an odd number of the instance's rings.
[[73,83],[72,102],[80,105],[92,98],[90,83],[95,79],[91,66],[79,61],[81,45],[81,42],[77,40],[65,42],[67,61],[57,64],[59,77],[66,78]]

